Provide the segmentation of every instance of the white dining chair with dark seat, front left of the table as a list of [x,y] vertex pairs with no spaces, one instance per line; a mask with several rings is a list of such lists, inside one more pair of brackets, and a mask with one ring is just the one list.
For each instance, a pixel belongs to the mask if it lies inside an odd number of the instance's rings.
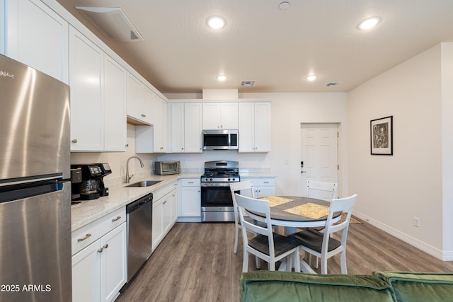
[[[255,255],[265,262],[268,262],[268,269],[275,271],[275,262],[284,258],[288,258],[287,270],[292,268],[292,259],[294,257],[294,271],[300,272],[300,255],[299,245],[301,242],[295,237],[286,237],[274,233],[270,222],[270,207],[268,200],[255,199],[246,197],[236,193],[236,202],[239,208],[239,218],[242,225],[242,240],[243,240],[243,262],[242,272],[248,271],[248,256]],[[244,211],[254,212],[263,215],[260,221],[265,223],[265,226],[258,226],[253,221],[244,219]],[[247,231],[255,234],[251,239],[248,239]]]

